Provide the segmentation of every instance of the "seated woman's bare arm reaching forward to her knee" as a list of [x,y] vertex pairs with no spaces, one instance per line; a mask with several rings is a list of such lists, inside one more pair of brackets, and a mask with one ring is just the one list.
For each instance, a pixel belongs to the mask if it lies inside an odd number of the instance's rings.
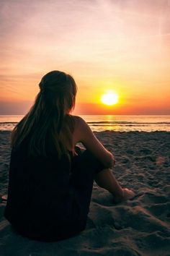
[[101,161],[107,168],[112,168],[115,163],[115,158],[104,146],[102,145],[94,133],[91,131],[88,124],[84,119],[79,116],[74,116],[75,129],[73,133],[74,145],[77,142],[82,142],[85,148],[93,153],[99,161]]

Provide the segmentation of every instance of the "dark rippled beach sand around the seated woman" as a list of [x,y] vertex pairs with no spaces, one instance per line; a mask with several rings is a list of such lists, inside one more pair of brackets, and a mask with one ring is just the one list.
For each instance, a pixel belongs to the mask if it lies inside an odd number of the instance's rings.
[[[170,132],[98,132],[114,153],[114,173],[133,200],[115,205],[94,184],[86,230],[61,242],[36,242],[12,231],[0,203],[2,256],[170,255]],[[10,132],[0,132],[1,195],[6,194]]]

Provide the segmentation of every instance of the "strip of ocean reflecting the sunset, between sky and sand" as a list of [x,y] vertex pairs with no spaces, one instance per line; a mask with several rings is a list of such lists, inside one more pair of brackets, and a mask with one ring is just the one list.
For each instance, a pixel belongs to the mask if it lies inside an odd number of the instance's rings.
[[[80,115],[91,127],[92,131],[119,132],[170,132],[170,116],[118,116],[118,115]],[[0,116],[0,130],[12,131],[23,116]]]

